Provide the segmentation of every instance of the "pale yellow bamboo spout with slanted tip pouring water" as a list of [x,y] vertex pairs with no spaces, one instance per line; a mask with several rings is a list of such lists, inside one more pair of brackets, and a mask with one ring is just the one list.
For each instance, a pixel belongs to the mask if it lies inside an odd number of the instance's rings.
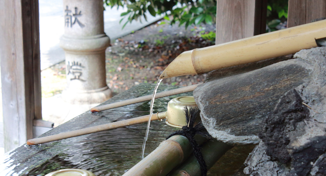
[[326,20],[320,20],[240,40],[185,51],[176,57],[160,79],[201,74],[317,47],[326,37]]

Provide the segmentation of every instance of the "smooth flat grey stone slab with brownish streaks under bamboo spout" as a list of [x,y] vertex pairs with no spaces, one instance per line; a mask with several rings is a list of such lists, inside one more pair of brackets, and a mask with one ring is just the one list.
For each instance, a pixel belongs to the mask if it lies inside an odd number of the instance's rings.
[[206,82],[194,91],[207,131],[217,140],[259,143],[259,125],[278,99],[310,78],[311,66],[290,59],[247,73]]

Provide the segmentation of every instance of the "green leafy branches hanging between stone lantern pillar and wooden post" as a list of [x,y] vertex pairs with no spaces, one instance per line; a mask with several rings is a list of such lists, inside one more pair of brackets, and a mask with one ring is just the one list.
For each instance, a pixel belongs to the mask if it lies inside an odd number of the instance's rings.
[[179,21],[179,26],[185,24],[186,28],[202,22],[212,24],[216,16],[216,0],[104,0],[104,2],[111,8],[127,7],[127,11],[121,14],[127,19],[123,27],[133,20],[141,20],[141,16],[147,19],[146,11],[152,16],[165,14],[164,19],[169,20],[170,24]]

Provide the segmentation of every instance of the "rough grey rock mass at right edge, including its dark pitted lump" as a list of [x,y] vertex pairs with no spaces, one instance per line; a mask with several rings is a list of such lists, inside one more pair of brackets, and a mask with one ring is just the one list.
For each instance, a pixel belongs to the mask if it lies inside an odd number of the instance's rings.
[[270,171],[278,175],[326,175],[325,56],[326,47],[294,55],[309,63],[311,78],[285,94],[267,116],[259,134],[262,140],[246,160],[247,174],[270,176],[266,170],[273,165]]

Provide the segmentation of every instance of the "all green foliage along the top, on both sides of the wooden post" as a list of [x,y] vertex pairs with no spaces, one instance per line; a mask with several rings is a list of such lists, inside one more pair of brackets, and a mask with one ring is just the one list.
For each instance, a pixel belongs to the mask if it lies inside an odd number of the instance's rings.
[[[276,26],[288,18],[288,0],[267,0],[267,26],[268,32],[276,31]],[[146,11],[152,16],[165,15],[164,19],[179,26],[200,23],[212,24],[216,17],[216,0],[104,0],[107,6],[126,7],[121,16],[128,22],[147,19]],[[120,22],[123,21],[120,20]],[[164,23],[164,22],[163,22]],[[162,24],[163,24],[162,23]]]

